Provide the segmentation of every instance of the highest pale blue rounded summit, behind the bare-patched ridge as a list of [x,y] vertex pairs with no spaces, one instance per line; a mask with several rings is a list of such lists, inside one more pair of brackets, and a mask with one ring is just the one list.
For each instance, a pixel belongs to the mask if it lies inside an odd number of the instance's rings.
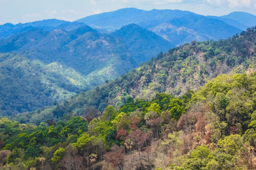
[[193,12],[155,9],[151,11],[144,11],[137,8],[122,8],[117,11],[87,16],[76,20],[76,22],[86,23],[91,27],[96,28],[108,28],[112,31],[127,24],[138,24],[139,26],[147,29],[188,14],[193,14]]

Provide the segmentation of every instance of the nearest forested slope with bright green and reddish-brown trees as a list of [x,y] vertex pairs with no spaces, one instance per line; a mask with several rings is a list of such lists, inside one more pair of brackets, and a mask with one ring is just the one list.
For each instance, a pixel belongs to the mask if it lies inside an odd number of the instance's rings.
[[[100,117],[39,126],[0,119],[2,169],[255,169],[256,74],[220,75],[199,91],[129,97]],[[96,117],[96,118],[94,118]]]

